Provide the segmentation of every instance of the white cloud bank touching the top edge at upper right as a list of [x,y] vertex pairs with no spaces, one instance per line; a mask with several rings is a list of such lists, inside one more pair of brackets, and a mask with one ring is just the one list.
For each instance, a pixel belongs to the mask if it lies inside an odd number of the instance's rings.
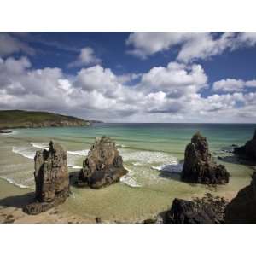
[[133,32],[126,44],[132,48],[128,53],[142,59],[177,47],[177,61],[186,63],[220,55],[227,49],[253,47],[256,32]]

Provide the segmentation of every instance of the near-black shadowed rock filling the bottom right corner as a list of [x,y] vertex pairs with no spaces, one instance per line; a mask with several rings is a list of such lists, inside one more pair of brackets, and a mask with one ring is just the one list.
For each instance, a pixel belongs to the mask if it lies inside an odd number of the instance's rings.
[[226,223],[256,223],[256,172],[250,185],[241,189],[225,210]]

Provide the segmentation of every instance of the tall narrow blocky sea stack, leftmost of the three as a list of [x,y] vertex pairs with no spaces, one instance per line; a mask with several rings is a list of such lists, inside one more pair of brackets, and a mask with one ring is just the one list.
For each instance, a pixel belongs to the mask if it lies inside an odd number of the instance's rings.
[[47,211],[66,201],[69,195],[66,150],[50,142],[49,150],[37,151],[34,160],[35,201],[24,208],[29,214]]

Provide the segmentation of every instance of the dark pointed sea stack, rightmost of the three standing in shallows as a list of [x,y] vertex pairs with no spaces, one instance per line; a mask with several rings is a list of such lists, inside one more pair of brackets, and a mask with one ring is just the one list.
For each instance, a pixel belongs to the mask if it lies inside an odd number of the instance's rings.
[[191,139],[185,150],[182,180],[190,183],[229,183],[230,173],[225,166],[217,165],[209,152],[207,138],[199,132]]

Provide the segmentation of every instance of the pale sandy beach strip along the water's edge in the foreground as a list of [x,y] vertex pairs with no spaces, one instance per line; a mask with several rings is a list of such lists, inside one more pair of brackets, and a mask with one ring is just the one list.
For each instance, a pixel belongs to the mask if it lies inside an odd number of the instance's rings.
[[[67,204],[69,200],[72,200],[71,198],[67,198],[67,201],[64,204],[53,207],[47,212],[41,212],[38,215],[29,215],[22,211],[22,207],[24,207],[28,202],[32,201],[34,196],[33,189],[17,187],[15,184],[9,183],[2,178],[0,178],[0,187],[4,188],[2,191],[8,191],[8,193],[4,193],[5,195],[3,195],[3,192],[0,191],[0,223],[2,224],[96,224],[99,222],[103,224],[138,224],[142,223],[144,220],[144,218],[139,218],[138,216],[137,220],[131,222],[122,221],[119,219],[113,221],[108,219],[101,219],[98,216],[89,217],[90,214],[85,216],[86,212],[84,212],[84,216],[81,216],[79,214],[75,214],[73,211],[67,210]],[[238,191],[226,191],[224,193],[224,199],[230,201],[236,196],[237,192]],[[223,192],[220,194],[223,196]],[[197,195],[191,195],[186,199],[191,200],[196,196]],[[166,208],[166,210],[168,209]],[[149,218],[156,217],[158,214],[160,214],[160,212],[161,210],[159,210],[159,212],[155,212],[154,216],[149,216]]]

